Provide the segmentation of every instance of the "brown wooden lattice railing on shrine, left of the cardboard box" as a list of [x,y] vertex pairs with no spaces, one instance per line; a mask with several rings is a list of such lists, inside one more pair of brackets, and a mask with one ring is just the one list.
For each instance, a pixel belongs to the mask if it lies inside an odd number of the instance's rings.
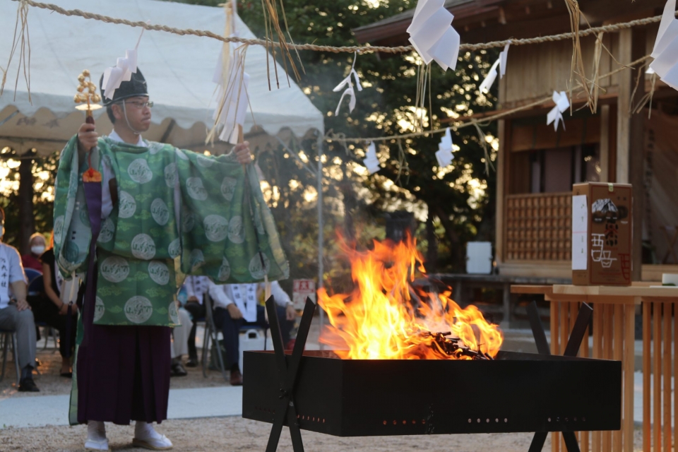
[[506,260],[571,260],[572,194],[506,196]]

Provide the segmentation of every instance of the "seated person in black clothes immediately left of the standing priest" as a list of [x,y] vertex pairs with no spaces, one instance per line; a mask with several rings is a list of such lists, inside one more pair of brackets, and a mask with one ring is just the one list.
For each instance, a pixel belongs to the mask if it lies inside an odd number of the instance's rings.
[[[54,234],[52,234],[54,236]],[[71,328],[68,323],[69,302],[66,294],[66,302],[62,301],[61,287],[64,278],[54,262],[54,242],[40,256],[42,261],[42,280],[44,283],[44,297],[40,297],[37,303],[32,304],[35,321],[47,323],[52,328],[59,331],[59,354],[61,355],[61,376],[71,377],[71,349],[76,346],[76,331],[78,326],[76,316],[78,315],[78,305],[71,304]],[[77,295],[77,291],[76,291]],[[66,338],[70,334],[70,338]]]

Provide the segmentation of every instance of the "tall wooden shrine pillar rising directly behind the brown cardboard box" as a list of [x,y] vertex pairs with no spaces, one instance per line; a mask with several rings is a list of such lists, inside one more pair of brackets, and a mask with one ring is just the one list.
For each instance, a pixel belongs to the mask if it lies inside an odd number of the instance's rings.
[[[627,28],[619,32],[619,61],[629,64],[646,54],[646,33],[643,28]],[[639,78],[638,78],[639,77]],[[633,98],[638,81],[638,89]],[[631,114],[645,95],[645,73],[636,69],[619,73],[619,98],[617,99],[617,182],[633,184],[634,189],[634,242],[631,246],[633,270],[631,280],[641,280],[643,253],[643,124],[642,114]]]

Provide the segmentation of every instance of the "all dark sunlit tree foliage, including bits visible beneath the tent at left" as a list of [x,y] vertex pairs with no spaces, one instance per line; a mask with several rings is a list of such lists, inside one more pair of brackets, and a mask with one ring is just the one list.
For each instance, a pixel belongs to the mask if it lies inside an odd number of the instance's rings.
[[[214,7],[222,1],[182,0]],[[283,0],[283,3],[290,36],[295,42],[349,46],[358,44],[353,29],[413,8],[416,1]],[[238,12],[255,35],[266,35],[261,1],[239,0]],[[282,18],[280,25],[284,30]],[[492,109],[494,95],[480,95],[477,87],[495,57],[496,54],[485,51],[461,54],[456,71],[444,72],[435,63],[432,65],[430,90],[427,90],[430,104],[428,98],[425,102],[426,107],[430,106],[430,115],[424,118],[427,129],[444,127],[451,117]],[[303,51],[299,52],[300,61],[295,61],[299,69],[303,68],[297,83],[325,115],[326,131],[347,137],[393,136],[414,131],[417,74],[424,69],[414,52],[357,55],[355,69],[364,90],[356,93],[357,106],[353,112],[348,111],[345,100],[340,114],[334,114],[341,93],[334,93],[333,88],[348,75],[355,58],[351,53]],[[283,83],[285,80],[281,78],[281,85]],[[485,124],[482,129],[489,137],[495,135],[494,124]],[[438,134],[380,142],[381,170],[372,175],[362,165],[367,142],[323,144],[321,189],[326,281],[333,282],[335,287],[350,285],[347,266],[334,257],[338,254],[335,232],[340,231],[363,245],[369,239],[381,239],[384,213],[393,210],[410,210],[422,222],[428,219],[428,228],[420,225],[416,235],[422,249],[428,249],[429,256],[437,256],[436,268],[429,266],[429,270],[462,270],[466,242],[492,241],[495,174],[492,168],[486,171],[482,138],[475,127],[453,131],[458,149],[453,164],[445,169],[437,167],[435,157],[440,138]],[[494,160],[492,144],[496,143],[486,144]],[[287,148],[282,144],[269,145],[257,149],[256,154],[268,183],[265,194],[292,264],[292,278],[314,278],[318,270],[315,256],[319,231],[317,184],[312,171],[317,169],[317,141],[307,136],[292,141]],[[36,160],[35,172],[47,169],[53,174],[55,158],[44,162]],[[311,171],[304,169],[299,160],[305,160]],[[36,187],[36,229],[49,231],[52,206],[40,198],[41,192],[42,189]],[[13,203],[13,196],[16,193],[3,200],[5,206]],[[8,227],[11,227],[11,209],[7,216]]]

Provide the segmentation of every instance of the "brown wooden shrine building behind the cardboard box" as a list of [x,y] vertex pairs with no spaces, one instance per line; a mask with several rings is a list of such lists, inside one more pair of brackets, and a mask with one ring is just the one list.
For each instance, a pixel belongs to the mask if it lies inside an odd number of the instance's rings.
[[[658,16],[665,0],[580,1],[592,27]],[[461,42],[477,43],[570,31],[563,0],[447,0]],[[359,42],[408,44],[414,10],[354,30]],[[582,21],[581,28],[588,28]],[[652,51],[658,23],[602,35],[599,74]],[[586,76],[593,74],[595,36],[581,38]],[[567,90],[571,40],[511,46],[499,83],[498,111]],[[616,61],[615,61],[616,60]],[[619,63],[617,63],[619,61]],[[490,61],[492,62],[492,61]],[[509,277],[571,278],[571,187],[576,182],[634,185],[634,280],[678,273],[678,92],[654,85],[648,105],[631,109],[652,89],[652,77],[624,69],[600,78],[597,111],[573,95],[565,128],[546,125],[549,101],[499,120],[495,259]],[[583,107],[583,108],[581,108]]]

